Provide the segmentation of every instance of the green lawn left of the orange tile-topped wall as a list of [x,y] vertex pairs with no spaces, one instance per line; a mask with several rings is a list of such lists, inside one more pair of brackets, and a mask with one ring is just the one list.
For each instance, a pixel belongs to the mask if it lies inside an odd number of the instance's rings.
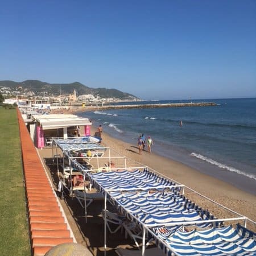
[[31,255],[15,109],[0,107],[0,254]]

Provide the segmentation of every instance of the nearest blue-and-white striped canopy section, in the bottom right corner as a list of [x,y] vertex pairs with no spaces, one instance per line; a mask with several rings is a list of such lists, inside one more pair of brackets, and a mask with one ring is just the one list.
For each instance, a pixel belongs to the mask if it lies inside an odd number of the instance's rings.
[[170,230],[162,239],[175,255],[256,255],[255,233],[244,230],[240,225],[236,229],[230,225],[191,232]]

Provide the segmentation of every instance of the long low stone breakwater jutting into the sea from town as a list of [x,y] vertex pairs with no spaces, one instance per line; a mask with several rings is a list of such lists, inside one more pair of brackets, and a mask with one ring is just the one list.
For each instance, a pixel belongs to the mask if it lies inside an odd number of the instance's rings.
[[134,105],[105,105],[97,109],[145,109],[145,108],[181,108],[192,106],[217,106],[214,102],[190,102],[190,103],[164,103],[164,104],[134,104]]

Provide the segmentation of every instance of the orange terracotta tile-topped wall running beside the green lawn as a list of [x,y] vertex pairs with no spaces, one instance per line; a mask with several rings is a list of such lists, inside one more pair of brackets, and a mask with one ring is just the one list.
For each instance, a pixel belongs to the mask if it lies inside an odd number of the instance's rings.
[[17,114],[32,254],[39,256],[46,254],[55,245],[75,241],[71,237],[71,232],[68,230],[63,213],[57,203],[55,192],[49,183],[18,108]]

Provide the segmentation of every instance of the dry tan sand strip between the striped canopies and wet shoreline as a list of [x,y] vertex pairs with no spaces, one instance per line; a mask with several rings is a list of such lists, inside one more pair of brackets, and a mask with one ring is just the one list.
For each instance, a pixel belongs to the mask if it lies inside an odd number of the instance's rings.
[[[94,134],[96,127],[91,127],[91,134]],[[185,186],[192,188],[201,195],[209,197],[218,204],[240,213],[243,216],[256,221],[256,196],[242,191],[225,181],[216,177],[203,174],[194,168],[183,163],[160,156],[153,152],[142,151],[142,155],[138,154],[138,148],[135,144],[123,142],[119,139],[111,137],[103,131],[102,144],[112,148],[113,151],[126,156],[129,159],[148,166],[151,169],[175,180]],[[202,204],[202,206],[204,206]]]

